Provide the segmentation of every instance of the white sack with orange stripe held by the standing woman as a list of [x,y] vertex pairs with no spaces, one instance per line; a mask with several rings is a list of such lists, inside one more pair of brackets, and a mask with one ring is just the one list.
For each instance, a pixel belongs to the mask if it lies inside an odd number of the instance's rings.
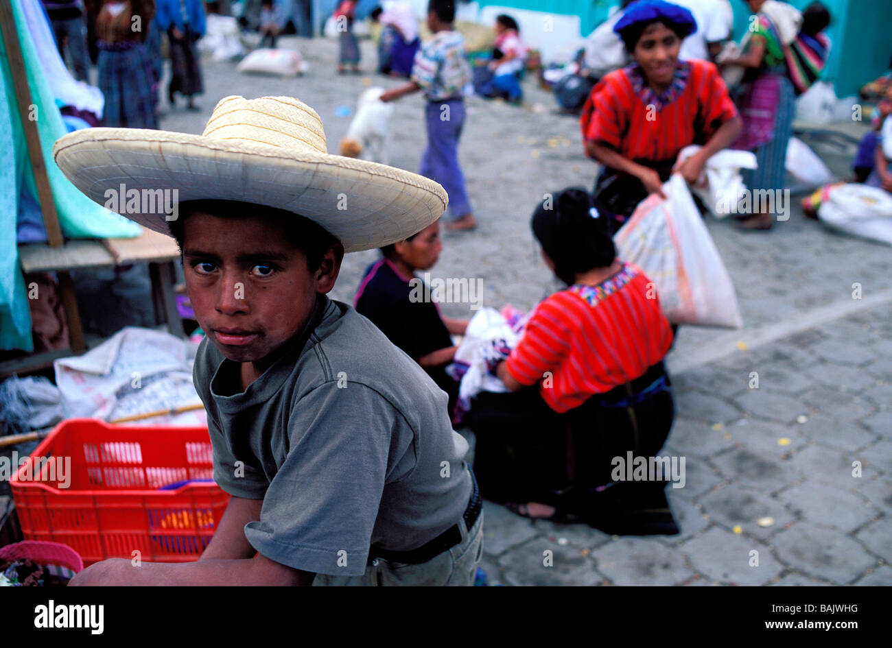
[[656,284],[660,306],[673,324],[741,328],[734,284],[688,185],[673,174],[663,192],[641,201],[614,241],[620,258]]

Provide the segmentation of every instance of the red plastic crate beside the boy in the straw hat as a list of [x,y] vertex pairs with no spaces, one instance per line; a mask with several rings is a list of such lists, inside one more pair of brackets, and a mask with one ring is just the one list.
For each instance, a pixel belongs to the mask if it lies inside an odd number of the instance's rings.
[[[41,457],[52,457],[50,463]],[[56,467],[70,458],[70,483]],[[148,562],[198,560],[226,510],[229,495],[211,480],[207,428],[61,422],[10,480],[28,540],[69,545],[85,565],[105,558]],[[41,466],[37,480],[29,480]]]

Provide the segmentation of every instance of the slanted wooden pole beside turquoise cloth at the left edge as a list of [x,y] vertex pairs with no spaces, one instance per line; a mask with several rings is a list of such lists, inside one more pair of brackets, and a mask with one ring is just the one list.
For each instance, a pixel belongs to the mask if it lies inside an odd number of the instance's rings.
[[[62,238],[62,228],[59,226],[59,215],[55,209],[53,188],[50,186],[49,176],[46,175],[44,153],[40,146],[40,133],[35,121],[40,119],[40,115],[35,114],[37,106],[31,101],[25,59],[21,53],[21,44],[15,29],[15,16],[12,13],[12,3],[9,0],[0,0],[0,33],[3,34],[4,45],[6,45],[12,87],[19,108],[21,126],[25,132],[28,157],[34,171],[37,200],[40,202],[40,210],[44,216],[46,239],[52,247],[60,248],[65,244],[65,240]],[[32,111],[32,107],[34,111]],[[69,346],[75,355],[80,355],[87,350],[87,340],[84,339],[84,329],[80,323],[74,284],[71,282],[71,276],[67,270],[60,270],[56,275],[59,277],[59,291],[62,293],[62,305],[65,308],[65,318],[68,322]]]

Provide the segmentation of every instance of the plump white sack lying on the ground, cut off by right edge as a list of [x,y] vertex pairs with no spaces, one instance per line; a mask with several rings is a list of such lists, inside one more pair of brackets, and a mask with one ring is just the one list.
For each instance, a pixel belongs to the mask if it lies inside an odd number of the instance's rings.
[[840,185],[818,209],[830,229],[892,245],[892,196],[879,187]]

